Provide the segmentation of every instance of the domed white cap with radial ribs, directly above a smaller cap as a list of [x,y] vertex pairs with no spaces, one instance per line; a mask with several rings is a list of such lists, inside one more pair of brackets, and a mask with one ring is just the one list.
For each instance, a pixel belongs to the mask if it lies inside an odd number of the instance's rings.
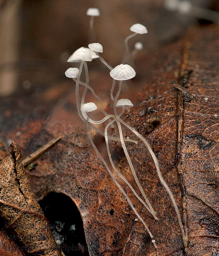
[[135,76],[134,68],[128,64],[120,64],[110,71],[110,76],[115,80],[128,80]]

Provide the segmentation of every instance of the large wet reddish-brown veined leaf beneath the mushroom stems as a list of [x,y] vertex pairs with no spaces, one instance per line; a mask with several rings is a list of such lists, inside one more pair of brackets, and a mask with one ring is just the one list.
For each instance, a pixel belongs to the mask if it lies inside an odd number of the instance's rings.
[[[215,116],[219,95],[218,42],[218,27],[191,29],[186,38],[141,59],[140,73],[147,74],[147,77],[133,79],[133,86],[128,92],[130,99],[141,99],[141,104],[126,115],[126,120],[149,140],[157,155],[162,174],[174,193],[183,217],[189,241],[186,250],[191,256],[214,255],[219,247],[219,134],[218,116]],[[188,77],[189,70],[193,72]],[[178,77],[181,77],[180,81]],[[97,78],[99,83],[94,82]],[[110,88],[105,81],[104,75],[91,72],[91,84],[94,84],[97,93],[102,88],[99,84]],[[183,90],[174,87],[177,82],[177,87]],[[140,91],[140,88],[144,89]],[[122,94],[121,98],[127,95],[124,91]],[[208,97],[207,102],[204,101],[205,97]],[[58,191],[76,203],[91,255],[155,256],[156,252],[143,225],[134,221],[135,216],[124,197],[87,146],[85,133],[73,127],[81,125],[80,121],[77,123],[73,99],[74,92],[68,92],[61,104],[51,110],[45,123],[38,112],[35,114],[38,119],[32,118],[32,109],[25,118],[20,112],[20,126],[8,131],[7,137],[14,138],[16,132],[22,129],[18,142],[26,155],[37,149],[34,145],[42,146],[60,132],[65,135],[35,161],[38,163],[36,170],[28,172],[37,199]],[[52,106],[51,102],[45,104]],[[38,125],[37,130],[29,132],[28,117],[32,120],[31,125]],[[10,118],[16,121],[18,117],[12,112],[11,117],[4,118],[5,123],[9,124]],[[150,129],[147,124],[150,124]],[[25,132],[29,134],[25,136]],[[145,148],[139,143],[130,148],[130,152],[136,160],[139,179],[159,218],[159,221],[154,221],[137,205],[155,237],[158,255],[184,255],[176,214],[153,166],[145,160]],[[114,214],[110,214],[111,209]]]

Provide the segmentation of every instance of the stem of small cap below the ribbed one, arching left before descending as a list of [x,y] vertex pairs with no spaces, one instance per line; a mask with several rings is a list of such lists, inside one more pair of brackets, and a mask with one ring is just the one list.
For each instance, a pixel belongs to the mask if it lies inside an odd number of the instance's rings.
[[[122,112],[119,114],[119,117],[123,114],[124,112],[124,106],[123,106],[123,109],[122,109]],[[105,127],[105,131],[104,131],[104,134],[105,134],[105,143],[106,143],[106,146],[107,146],[107,153],[108,153],[108,157],[110,159],[110,163],[113,167],[113,169],[115,170],[116,174],[118,174],[118,176],[120,178],[122,178],[124,180],[124,182],[126,182],[126,184],[128,185],[128,187],[130,187],[131,191],[134,193],[134,195],[138,198],[138,200],[146,207],[146,209],[153,215],[153,217],[157,220],[157,217],[155,216],[154,212],[151,211],[151,209],[146,205],[146,203],[141,199],[141,197],[138,196],[138,194],[136,193],[136,191],[134,190],[134,188],[132,187],[132,185],[126,180],[126,178],[116,169],[115,165],[114,165],[114,162],[112,161],[112,157],[111,157],[111,154],[110,154],[110,148],[109,148],[109,142],[108,142],[108,132],[107,132],[107,129],[108,127],[114,122],[116,121],[118,123],[118,120],[112,120],[109,124],[107,124],[107,126]]]

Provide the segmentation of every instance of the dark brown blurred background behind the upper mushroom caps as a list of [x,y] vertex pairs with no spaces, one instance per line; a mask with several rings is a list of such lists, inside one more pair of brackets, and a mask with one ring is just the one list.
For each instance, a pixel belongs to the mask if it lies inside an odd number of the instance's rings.
[[[218,0],[191,3],[219,10]],[[89,7],[100,10],[94,20],[95,41],[103,45],[102,56],[113,66],[120,63],[124,38],[134,23],[149,31],[130,40],[130,48],[136,41],[143,43],[140,55],[159,51],[191,25],[208,23],[166,10],[164,0],[0,0],[0,97],[66,79],[68,57],[88,45]]]

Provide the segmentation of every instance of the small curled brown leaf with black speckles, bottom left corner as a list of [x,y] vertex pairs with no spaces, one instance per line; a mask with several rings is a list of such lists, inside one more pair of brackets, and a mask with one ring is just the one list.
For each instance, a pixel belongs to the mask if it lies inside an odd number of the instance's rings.
[[0,213],[6,221],[5,227],[12,230],[25,251],[33,255],[59,256],[49,222],[32,192],[20,150],[14,142],[9,152],[12,157],[0,163]]

